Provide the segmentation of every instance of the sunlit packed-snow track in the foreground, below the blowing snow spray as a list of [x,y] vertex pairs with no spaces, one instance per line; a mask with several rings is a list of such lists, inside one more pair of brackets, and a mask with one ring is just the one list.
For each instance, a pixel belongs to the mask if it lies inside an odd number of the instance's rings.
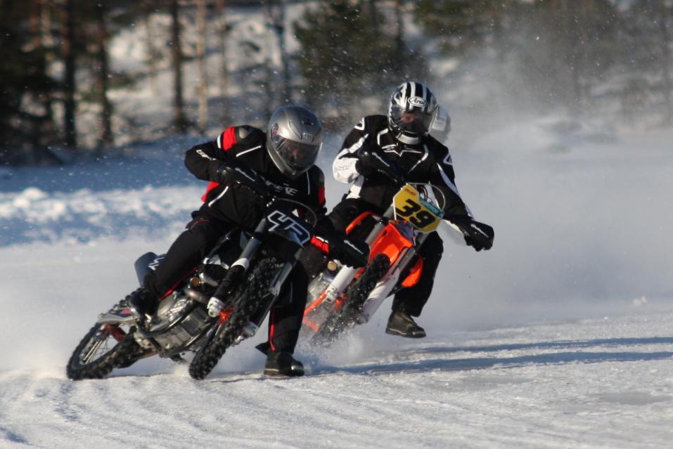
[[0,373],[0,446],[665,448],[671,323],[667,313],[435,329],[420,342],[380,335],[301,379],[235,367],[243,348],[203,382],[170,365],[85,382],[12,370]]

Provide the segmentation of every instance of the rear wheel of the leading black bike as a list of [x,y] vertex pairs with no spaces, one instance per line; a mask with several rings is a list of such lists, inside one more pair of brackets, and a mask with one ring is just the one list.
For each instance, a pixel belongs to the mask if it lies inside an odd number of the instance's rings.
[[102,379],[115,367],[129,366],[139,358],[141,347],[131,327],[124,332],[118,325],[96,324],[70,356],[66,372],[72,380]]

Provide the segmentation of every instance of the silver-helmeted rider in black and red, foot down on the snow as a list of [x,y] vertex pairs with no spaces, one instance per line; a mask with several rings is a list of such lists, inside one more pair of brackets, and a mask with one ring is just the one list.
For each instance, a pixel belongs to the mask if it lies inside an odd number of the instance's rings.
[[[210,181],[203,204],[192,213],[186,230],[177,237],[155,271],[146,276],[143,287],[129,297],[129,306],[139,317],[154,315],[158,301],[172,293],[220,237],[234,227],[253,230],[262,219],[266,200],[249,188],[228,185],[225,167],[247,167],[267,181],[271,193],[290,197],[324,216],[324,175],[315,160],[321,148],[323,129],[316,115],[299,106],[278,108],[267,126],[267,134],[255,127],[231,126],[217,140],[196,145],[186,152],[185,165],[199,179]],[[329,220],[319,222],[331,244],[331,256],[347,264],[366,263],[366,256],[340,241]],[[342,239],[343,240],[343,239]],[[303,366],[292,356],[304,313],[307,275],[300,264],[290,273],[276,306],[269,315],[269,339],[264,373],[300,376]],[[218,304],[219,303],[219,304]],[[211,299],[209,313],[222,306]]]

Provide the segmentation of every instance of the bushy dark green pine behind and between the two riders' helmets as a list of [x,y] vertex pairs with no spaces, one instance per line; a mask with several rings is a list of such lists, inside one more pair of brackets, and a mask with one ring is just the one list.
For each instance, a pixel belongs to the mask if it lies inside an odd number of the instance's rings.
[[[321,3],[303,21],[306,25],[295,23],[302,90],[309,107],[328,123],[350,125],[364,113],[380,112],[404,78],[427,76],[422,53],[387,34],[385,18],[371,1]],[[366,97],[376,98],[376,110],[365,109]]]

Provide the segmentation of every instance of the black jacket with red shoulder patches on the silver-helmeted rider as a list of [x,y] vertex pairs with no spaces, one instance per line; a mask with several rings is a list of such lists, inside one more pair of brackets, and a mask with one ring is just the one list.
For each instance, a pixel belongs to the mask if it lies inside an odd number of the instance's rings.
[[262,219],[266,203],[250,188],[219,183],[217,169],[225,162],[243,164],[267,180],[267,188],[280,196],[307,204],[320,219],[326,213],[325,176],[319,167],[290,179],[281,174],[266,148],[267,136],[253,126],[231,126],[217,140],[196,145],[186,152],[185,165],[194,176],[211,181],[201,198],[201,216],[252,229]]

